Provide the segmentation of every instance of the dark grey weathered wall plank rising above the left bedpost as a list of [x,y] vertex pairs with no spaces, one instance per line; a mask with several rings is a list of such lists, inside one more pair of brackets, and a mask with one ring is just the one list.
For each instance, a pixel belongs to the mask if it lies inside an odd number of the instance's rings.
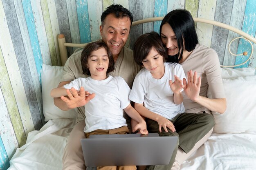
[[[60,29],[60,33],[65,35],[66,42],[72,42],[69,20],[67,15],[66,0],[56,0],[55,6],[56,6],[58,26]],[[73,53],[73,49],[71,47],[67,47],[67,57],[69,57],[72,53]]]

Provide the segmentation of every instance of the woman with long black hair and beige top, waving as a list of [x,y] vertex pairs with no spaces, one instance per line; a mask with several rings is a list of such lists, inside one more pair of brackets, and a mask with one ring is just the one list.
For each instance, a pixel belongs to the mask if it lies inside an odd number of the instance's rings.
[[[172,169],[179,169],[180,164],[207,141],[214,125],[210,110],[224,113],[226,99],[218,55],[213,49],[198,44],[195,23],[189,11],[169,12],[160,25],[160,35],[166,46],[168,62],[181,64],[187,73],[187,81],[183,79],[185,112],[198,113],[195,114],[198,116],[186,117],[185,120],[181,119],[179,123],[174,124],[180,143]],[[194,74],[192,70],[195,71]],[[213,99],[207,98],[207,91],[212,94]],[[180,128],[183,124],[186,126]],[[202,135],[202,129],[207,133],[203,132],[205,134]],[[157,166],[156,169],[167,170],[171,165],[172,162],[168,166]]]

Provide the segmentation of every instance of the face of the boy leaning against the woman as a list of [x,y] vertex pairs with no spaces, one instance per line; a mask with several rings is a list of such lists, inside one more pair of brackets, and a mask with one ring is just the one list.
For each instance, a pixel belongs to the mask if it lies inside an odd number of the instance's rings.
[[154,47],[148,53],[147,57],[142,60],[143,66],[150,71],[155,79],[160,79],[164,76],[164,60]]

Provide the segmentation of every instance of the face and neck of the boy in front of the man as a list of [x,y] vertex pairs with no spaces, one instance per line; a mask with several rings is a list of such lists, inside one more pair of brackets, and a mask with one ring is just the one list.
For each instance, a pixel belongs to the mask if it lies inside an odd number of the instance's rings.
[[87,60],[87,67],[90,70],[92,79],[103,80],[107,78],[108,53],[103,47],[92,51]]

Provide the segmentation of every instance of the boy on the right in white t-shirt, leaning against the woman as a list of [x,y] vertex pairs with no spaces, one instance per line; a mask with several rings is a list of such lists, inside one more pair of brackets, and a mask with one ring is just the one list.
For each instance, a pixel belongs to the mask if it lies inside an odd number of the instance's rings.
[[[183,68],[177,63],[166,63],[166,49],[158,33],[141,35],[134,45],[134,59],[144,68],[136,75],[129,99],[146,119],[148,132],[159,136],[178,136],[173,121],[184,113],[182,104]],[[170,163],[177,153],[177,141]],[[148,168],[148,167],[147,167]]]

